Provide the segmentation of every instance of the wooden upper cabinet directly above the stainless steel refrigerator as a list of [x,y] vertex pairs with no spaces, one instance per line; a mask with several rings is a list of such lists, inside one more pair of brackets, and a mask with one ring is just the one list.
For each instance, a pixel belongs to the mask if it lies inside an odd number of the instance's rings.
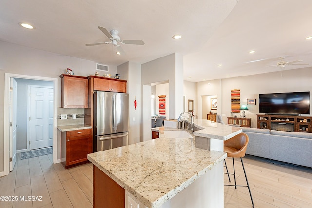
[[127,92],[127,80],[112,79],[98,76],[88,76],[93,79],[93,90],[111,91],[126,93]]

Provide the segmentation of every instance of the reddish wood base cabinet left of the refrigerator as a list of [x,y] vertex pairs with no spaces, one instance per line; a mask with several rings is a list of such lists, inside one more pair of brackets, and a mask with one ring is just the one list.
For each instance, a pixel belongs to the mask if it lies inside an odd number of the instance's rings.
[[61,132],[61,163],[65,168],[88,162],[92,153],[91,129]]

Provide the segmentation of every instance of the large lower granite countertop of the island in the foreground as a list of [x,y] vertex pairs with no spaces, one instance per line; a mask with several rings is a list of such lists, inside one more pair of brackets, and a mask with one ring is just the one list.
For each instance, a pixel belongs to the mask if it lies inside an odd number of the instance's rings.
[[[181,144],[181,149],[178,144]],[[157,208],[222,163],[227,154],[191,139],[153,139],[88,154],[88,159],[149,208]]]

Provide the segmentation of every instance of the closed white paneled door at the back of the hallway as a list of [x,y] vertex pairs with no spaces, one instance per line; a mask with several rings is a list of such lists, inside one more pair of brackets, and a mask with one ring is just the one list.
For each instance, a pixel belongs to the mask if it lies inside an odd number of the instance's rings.
[[29,87],[30,150],[53,145],[53,88]]

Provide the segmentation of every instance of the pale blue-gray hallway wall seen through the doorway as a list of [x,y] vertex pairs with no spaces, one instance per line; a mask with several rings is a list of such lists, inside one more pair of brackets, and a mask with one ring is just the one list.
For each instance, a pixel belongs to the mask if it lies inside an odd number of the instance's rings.
[[27,149],[27,85],[51,86],[53,82],[15,78],[17,82],[16,150]]

